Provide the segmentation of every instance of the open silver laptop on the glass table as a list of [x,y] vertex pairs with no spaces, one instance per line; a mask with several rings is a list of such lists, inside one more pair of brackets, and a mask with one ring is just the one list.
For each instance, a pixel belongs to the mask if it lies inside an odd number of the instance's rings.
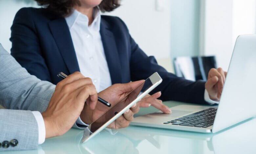
[[256,34],[237,38],[218,108],[171,109],[172,114],[159,111],[136,117],[131,125],[215,133],[256,116]]

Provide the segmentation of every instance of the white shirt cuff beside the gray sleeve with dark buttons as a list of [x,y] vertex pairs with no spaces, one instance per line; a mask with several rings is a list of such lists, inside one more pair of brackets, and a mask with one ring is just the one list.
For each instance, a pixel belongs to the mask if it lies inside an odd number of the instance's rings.
[[38,126],[38,144],[43,144],[45,141],[45,125],[44,119],[40,112],[32,111]]

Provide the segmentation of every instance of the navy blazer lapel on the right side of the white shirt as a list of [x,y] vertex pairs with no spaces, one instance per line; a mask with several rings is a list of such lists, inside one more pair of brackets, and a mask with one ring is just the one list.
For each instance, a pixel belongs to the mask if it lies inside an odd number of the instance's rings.
[[106,55],[112,84],[122,83],[121,65],[117,45],[108,24],[101,18],[100,35]]

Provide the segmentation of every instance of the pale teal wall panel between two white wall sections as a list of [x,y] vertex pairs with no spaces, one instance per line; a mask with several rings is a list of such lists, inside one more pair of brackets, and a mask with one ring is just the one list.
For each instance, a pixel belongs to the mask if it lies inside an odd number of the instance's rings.
[[199,54],[199,0],[171,1],[171,57]]

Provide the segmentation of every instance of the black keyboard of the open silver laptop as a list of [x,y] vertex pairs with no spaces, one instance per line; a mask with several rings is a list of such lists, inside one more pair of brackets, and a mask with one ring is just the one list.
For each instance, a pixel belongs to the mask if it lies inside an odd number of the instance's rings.
[[207,108],[205,110],[192,113],[175,120],[167,121],[164,124],[171,123],[172,125],[207,128],[213,125],[216,112],[217,108]]

